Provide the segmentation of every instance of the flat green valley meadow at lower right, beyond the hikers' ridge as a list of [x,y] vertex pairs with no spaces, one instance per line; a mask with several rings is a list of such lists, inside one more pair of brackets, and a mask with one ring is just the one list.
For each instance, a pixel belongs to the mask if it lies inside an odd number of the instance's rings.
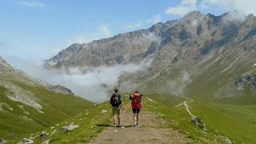
[[[170,102],[172,102],[172,99],[175,101],[175,99],[178,98],[176,96],[164,94],[152,96],[149,94],[149,97],[157,102],[161,102],[169,108],[178,110],[178,113],[171,112],[174,114],[173,117],[186,112],[183,105],[169,105]],[[183,98],[181,98],[181,100],[183,100]],[[226,136],[227,138],[230,138],[232,142],[236,143],[256,142],[256,138],[254,137],[256,134],[256,106],[234,106],[195,101],[188,101],[187,104],[191,113],[202,118],[202,122],[206,124],[207,135],[214,134]],[[187,120],[189,120],[191,116],[186,114],[185,118],[188,118]],[[188,123],[185,125],[188,125]],[[182,127],[183,126],[177,126],[177,129]],[[190,129],[194,130],[194,128],[189,126],[186,126],[183,130],[186,131]],[[193,138],[198,138],[198,136],[198,134],[195,134],[193,135]],[[211,139],[211,137],[212,135],[207,139]]]

